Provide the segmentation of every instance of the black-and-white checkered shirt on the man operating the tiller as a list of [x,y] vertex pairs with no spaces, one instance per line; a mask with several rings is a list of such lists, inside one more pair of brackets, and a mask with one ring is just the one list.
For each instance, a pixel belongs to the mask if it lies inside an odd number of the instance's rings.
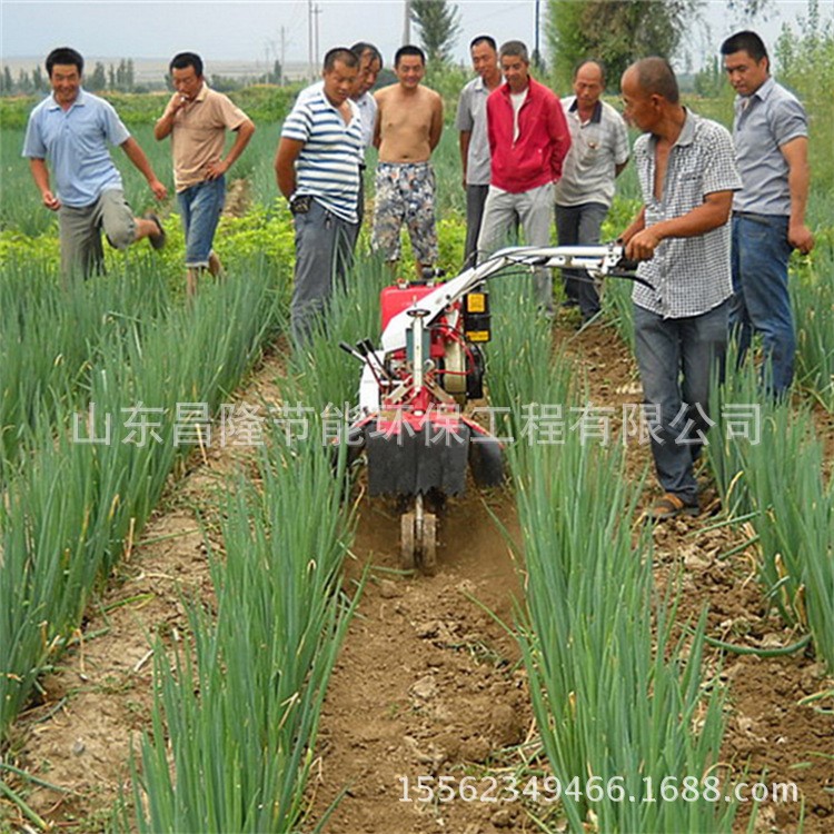
[[[654,196],[656,139],[645,133],[634,146],[646,228],[683,217],[717,191],[737,191],[742,180],[735,166],[733,140],[726,128],[686,110],[681,136],[669,151],[663,196]],[[654,289],[634,285],[638,307],[664,318],[708,312],[732,294],[729,221],[704,235],[666,238],[637,275]]]

